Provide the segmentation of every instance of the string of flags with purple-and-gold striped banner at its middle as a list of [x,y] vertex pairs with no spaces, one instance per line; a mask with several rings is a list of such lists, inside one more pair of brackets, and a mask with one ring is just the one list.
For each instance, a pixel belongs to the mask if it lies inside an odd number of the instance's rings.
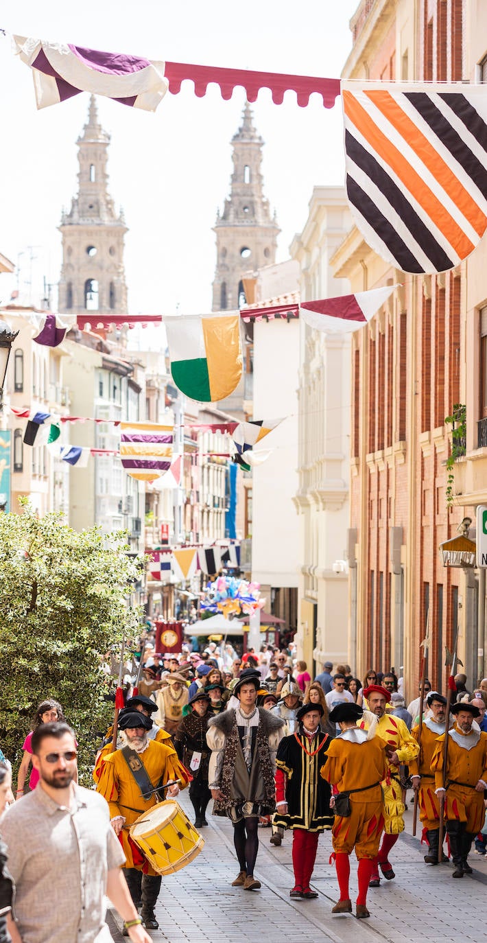
[[[152,482],[159,478],[169,469],[172,469],[174,477],[179,483],[180,464],[175,468],[176,463],[180,463],[180,456],[173,457],[173,434],[174,425],[171,422],[166,424],[155,422],[122,422],[116,420],[92,420],[84,417],[59,417],[51,413],[41,412],[35,409],[18,409],[10,406],[10,411],[18,419],[26,419],[27,423],[24,431],[24,444],[31,445],[42,444],[55,446],[59,450],[58,455],[61,460],[70,465],[77,465],[79,468],[88,464],[89,455],[120,455],[122,467],[125,472],[138,481]],[[48,423],[48,420],[52,422]],[[60,438],[60,422],[112,422],[115,426],[120,426],[121,444],[120,452],[112,449],[94,449],[77,445],[61,445],[57,442]],[[244,469],[250,469],[252,466],[252,448],[262,438],[268,436],[268,433],[276,428],[283,419],[277,420],[250,420],[249,422],[228,422],[228,423],[191,423],[194,427],[200,429],[211,428],[214,431],[222,431],[228,434],[233,442],[233,451],[228,453],[209,452],[206,455],[219,455],[221,457],[233,458]],[[244,458],[242,458],[244,455]],[[254,464],[260,464],[262,460],[268,457],[266,454],[256,455]]]

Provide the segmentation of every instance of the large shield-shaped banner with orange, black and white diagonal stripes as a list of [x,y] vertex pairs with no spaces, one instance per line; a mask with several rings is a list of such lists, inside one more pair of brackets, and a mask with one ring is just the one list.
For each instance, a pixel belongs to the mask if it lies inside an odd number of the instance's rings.
[[487,228],[487,86],[342,82],[347,194],[403,272],[453,269]]

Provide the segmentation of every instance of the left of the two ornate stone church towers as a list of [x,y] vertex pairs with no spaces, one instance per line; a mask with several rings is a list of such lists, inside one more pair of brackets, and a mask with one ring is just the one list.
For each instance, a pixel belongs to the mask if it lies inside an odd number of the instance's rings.
[[106,160],[110,136],[98,122],[94,95],[88,123],[76,141],[79,153],[78,193],[69,212],[63,210],[62,269],[59,311],[124,314],[127,287],[123,238],[127,231],[108,194]]

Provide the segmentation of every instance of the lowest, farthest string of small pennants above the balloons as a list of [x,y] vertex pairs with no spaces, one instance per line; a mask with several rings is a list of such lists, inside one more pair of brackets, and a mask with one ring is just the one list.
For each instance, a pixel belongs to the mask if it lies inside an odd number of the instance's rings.
[[207,576],[218,573],[222,567],[240,566],[240,544],[232,541],[225,546],[164,547],[147,552],[149,573],[154,580],[163,581],[170,572],[179,580],[190,580],[196,571]]

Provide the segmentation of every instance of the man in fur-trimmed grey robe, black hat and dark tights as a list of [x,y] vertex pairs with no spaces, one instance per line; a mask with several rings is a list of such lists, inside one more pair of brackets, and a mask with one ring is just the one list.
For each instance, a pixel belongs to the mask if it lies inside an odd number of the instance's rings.
[[235,852],[240,866],[235,887],[255,890],[253,876],[259,847],[259,817],[275,809],[275,755],[284,734],[284,721],[257,707],[260,675],[243,671],[235,684],[236,708],[208,723],[206,741],[212,754],[209,786],[215,800],[213,814],[228,816],[234,826]]

